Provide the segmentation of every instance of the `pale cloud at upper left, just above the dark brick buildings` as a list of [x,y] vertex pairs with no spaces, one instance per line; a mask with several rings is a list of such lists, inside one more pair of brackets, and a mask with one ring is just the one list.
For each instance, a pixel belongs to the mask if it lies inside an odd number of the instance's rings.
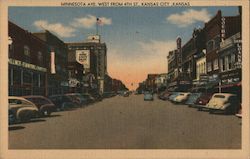
[[64,26],[61,23],[49,23],[46,20],[37,20],[33,23],[34,26],[36,26],[37,29],[46,29],[51,32],[54,32],[60,37],[73,37],[75,36],[74,32],[76,31],[72,27]]

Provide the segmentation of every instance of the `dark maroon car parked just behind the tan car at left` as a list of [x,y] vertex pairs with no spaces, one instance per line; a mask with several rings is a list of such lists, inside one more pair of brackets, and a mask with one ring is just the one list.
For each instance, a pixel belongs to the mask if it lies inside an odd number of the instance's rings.
[[56,106],[43,96],[23,96],[23,98],[34,103],[39,111],[39,116],[50,116],[52,112],[56,111]]

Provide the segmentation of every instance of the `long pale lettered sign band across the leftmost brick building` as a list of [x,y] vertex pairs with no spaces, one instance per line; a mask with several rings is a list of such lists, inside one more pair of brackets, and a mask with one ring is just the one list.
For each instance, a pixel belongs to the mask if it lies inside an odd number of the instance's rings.
[[9,64],[36,70],[36,71],[47,72],[47,69],[44,67],[40,67],[34,64],[26,63],[26,62],[11,59],[11,58],[9,58]]

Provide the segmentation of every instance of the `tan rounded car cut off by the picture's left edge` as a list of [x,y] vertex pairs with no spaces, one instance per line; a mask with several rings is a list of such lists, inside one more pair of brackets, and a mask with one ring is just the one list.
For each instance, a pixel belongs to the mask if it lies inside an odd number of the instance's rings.
[[22,97],[9,96],[8,99],[11,122],[26,122],[37,117],[38,108],[34,103]]

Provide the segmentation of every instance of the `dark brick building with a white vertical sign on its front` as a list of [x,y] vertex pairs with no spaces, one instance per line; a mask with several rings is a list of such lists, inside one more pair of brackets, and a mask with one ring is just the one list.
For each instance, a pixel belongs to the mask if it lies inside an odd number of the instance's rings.
[[69,80],[67,45],[48,30],[33,35],[47,44],[47,57],[50,59],[47,61],[49,64],[47,95],[67,93]]

